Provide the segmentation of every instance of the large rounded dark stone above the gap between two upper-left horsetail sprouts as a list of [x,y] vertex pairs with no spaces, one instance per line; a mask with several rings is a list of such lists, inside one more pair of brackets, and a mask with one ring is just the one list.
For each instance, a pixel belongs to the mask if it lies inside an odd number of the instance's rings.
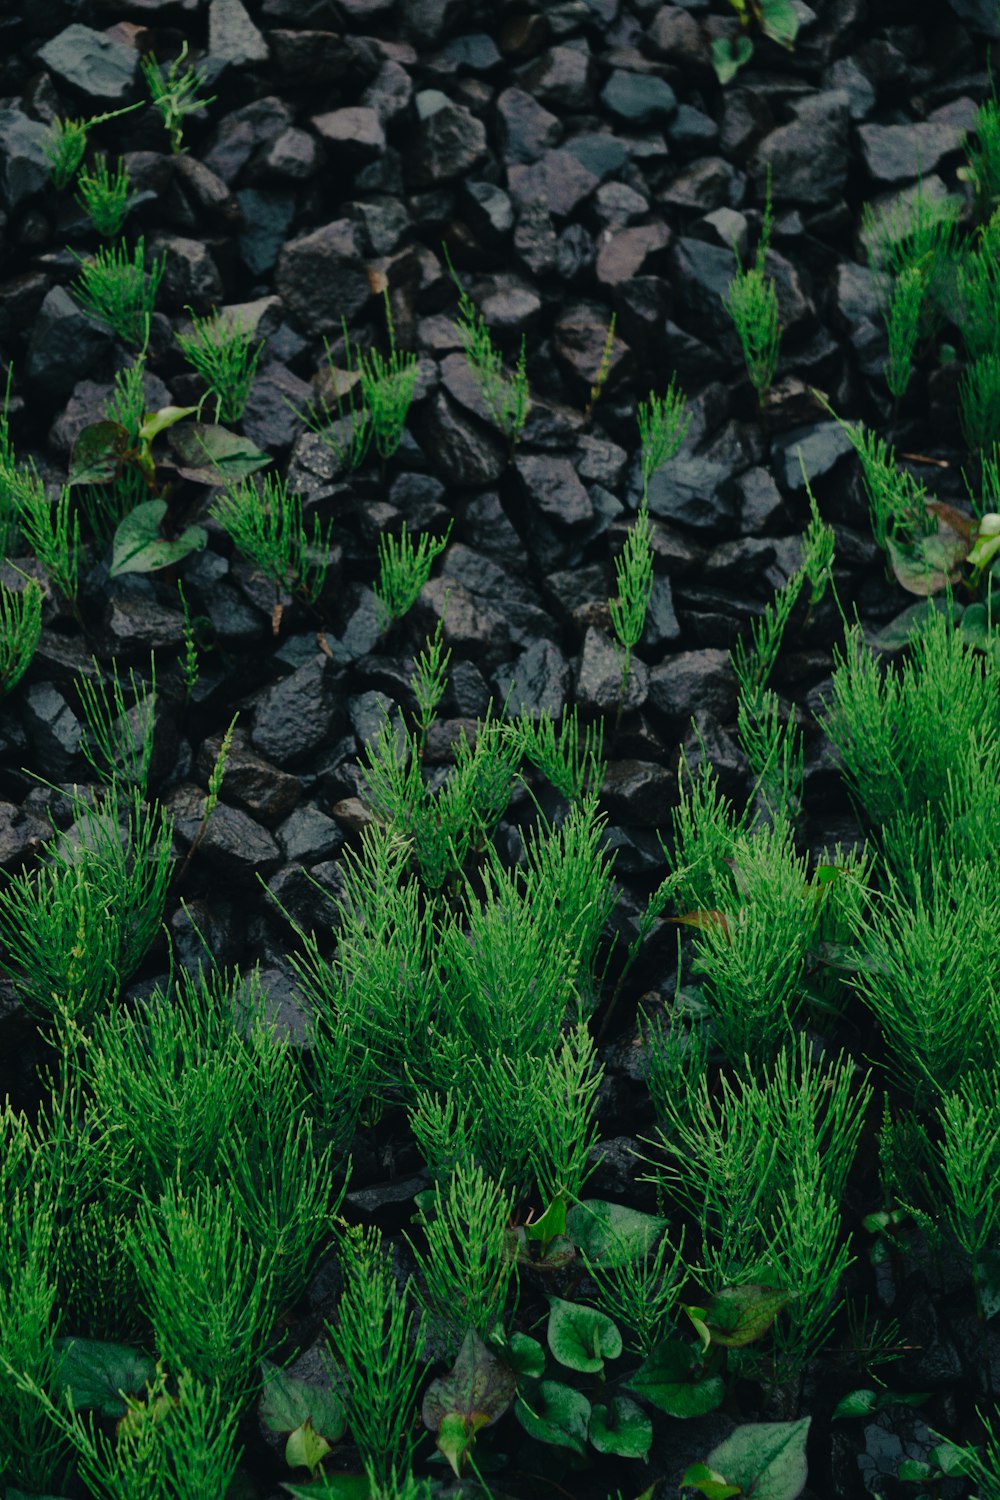
[[358,228],[334,219],[285,244],[274,285],[292,318],[315,333],[333,333],[357,318],[372,296]]

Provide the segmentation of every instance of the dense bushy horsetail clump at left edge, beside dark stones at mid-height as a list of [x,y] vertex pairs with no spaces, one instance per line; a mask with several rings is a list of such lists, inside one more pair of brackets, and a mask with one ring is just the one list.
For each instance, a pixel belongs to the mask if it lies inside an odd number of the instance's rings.
[[115,998],[159,932],[171,858],[169,820],[112,783],[37,870],[0,885],[0,942],[31,1011],[87,1022]]

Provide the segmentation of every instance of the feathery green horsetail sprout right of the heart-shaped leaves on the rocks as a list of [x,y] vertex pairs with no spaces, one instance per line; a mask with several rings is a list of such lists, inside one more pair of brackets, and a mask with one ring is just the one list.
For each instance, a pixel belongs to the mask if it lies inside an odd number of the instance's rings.
[[301,495],[282,478],[265,476],[262,488],[250,478],[229,486],[208,512],[262,578],[274,584],[271,630],[282,624],[282,590],[291,588],[307,604],[322,594],[330,567],[333,522],[324,528],[313,518],[312,534],[303,520]]

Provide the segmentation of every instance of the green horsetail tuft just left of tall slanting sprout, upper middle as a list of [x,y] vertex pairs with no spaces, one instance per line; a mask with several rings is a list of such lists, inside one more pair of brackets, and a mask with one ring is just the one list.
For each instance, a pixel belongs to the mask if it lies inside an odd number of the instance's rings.
[[361,354],[357,346],[352,348],[348,326],[342,320],[346,364],[343,370],[334,364],[330,342],[324,339],[336,411],[325,398],[321,398],[319,402],[307,402],[301,410],[286,400],[286,405],[306,423],[309,430],[315,432],[336,454],[337,462],[352,470],[360,468],[364,462],[372,442],[375,442],[382,466],[396,453],[403,438],[406,414],[420,374],[417,356],[403,354],[396,348],[396,328],[388,292],[384,294],[384,302],[388,358],[378,350]]

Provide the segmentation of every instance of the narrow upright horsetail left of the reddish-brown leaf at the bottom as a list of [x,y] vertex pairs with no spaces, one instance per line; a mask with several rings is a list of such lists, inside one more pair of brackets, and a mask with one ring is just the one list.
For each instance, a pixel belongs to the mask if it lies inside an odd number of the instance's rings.
[[327,1324],[333,1370],[351,1437],[379,1484],[412,1464],[417,1388],[423,1378],[423,1323],[409,1310],[382,1252],[379,1230],[345,1230],[343,1292]]

